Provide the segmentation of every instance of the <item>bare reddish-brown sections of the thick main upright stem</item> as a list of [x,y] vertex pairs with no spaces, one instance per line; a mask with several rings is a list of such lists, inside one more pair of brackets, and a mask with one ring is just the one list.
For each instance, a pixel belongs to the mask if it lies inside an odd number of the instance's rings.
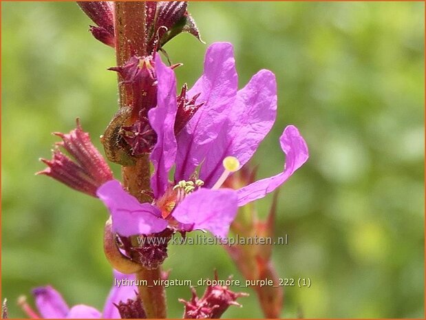
[[[125,65],[131,56],[147,55],[145,36],[145,1],[129,1],[115,3],[115,34],[117,65]],[[123,83],[118,75],[118,92],[120,107],[130,106],[133,93],[130,86]],[[149,155],[139,158],[132,167],[123,167],[123,184],[139,202],[149,201],[147,192],[151,191],[149,184],[150,164]],[[147,270],[142,268],[136,273],[138,279],[147,280],[148,286],[139,286],[139,295],[148,318],[165,318],[167,312],[164,286],[156,286],[153,280],[161,279],[161,269]]]

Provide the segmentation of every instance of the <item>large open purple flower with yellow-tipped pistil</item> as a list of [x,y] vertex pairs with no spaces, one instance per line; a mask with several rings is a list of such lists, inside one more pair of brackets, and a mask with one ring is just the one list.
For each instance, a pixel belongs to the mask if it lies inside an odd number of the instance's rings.
[[275,122],[274,74],[261,70],[237,90],[233,47],[214,43],[206,52],[204,74],[187,92],[187,100],[196,97],[202,106],[176,136],[175,74],[158,55],[155,63],[157,106],[148,113],[157,134],[151,153],[153,201],[140,204],[116,180],[100,186],[97,195],[109,208],[113,231],[123,236],[158,233],[170,226],[226,237],[238,206],[274,191],[308,160],[306,142],[296,127],[286,127],[279,139],[286,154],[281,173],[237,190],[220,188],[251,159]]

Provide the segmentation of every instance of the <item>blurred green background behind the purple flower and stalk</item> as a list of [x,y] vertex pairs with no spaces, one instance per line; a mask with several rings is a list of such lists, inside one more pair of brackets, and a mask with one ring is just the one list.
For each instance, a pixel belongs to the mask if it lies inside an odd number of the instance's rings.
[[[278,137],[299,127],[310,160],[279,194],[274,248],[287,288],[283,317],[424,316],[424,4],[190,3],[206,43],[231,41],[242,87],[275,72],[279,116],[253,163],[282,168]],[[97,136],[117,109],[114,51],[92,39],[75,3],[2,3],[2,296],[10,316],[31,288],[52,284],[70,305],[102,308],[111,269],[107,213],[94,198],[34,172],[81,117]],[[202,72],[206,45],[189,34],[166,46],[180,84]],[[118,167],[114,167],[118,169]],[[118,174],[118,171],[116,171]],[[266,213],[272,197],[259,201]],[[171,247],[171,278],[241,279],[220,246]],[[247,292],[251,290],[247,289]],[[226,317],[262,317],[254,292]],[[167,290],[169,316],[180,317]],[[30,299],[32,302],[32,300]]]

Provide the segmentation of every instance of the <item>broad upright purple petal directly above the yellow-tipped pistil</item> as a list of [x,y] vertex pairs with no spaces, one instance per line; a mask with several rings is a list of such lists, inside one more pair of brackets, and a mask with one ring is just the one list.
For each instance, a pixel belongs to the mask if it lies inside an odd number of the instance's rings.
[[228,121],[206,154],[200,171],[204,186],[215,184],[222,175],[222,160],[234,156],[241,167],[251,159],[260,142],[273,127],[277,114],[277,83],[275,75],[261,70],[239,90],[230,107]]

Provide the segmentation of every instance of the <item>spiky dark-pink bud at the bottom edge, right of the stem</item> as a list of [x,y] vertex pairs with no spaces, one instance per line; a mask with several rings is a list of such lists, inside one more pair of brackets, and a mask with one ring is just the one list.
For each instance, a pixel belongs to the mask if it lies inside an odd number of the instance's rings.
[[[215,280],[217,281],[217,273],[215,273]],[[201,298],[198,298],[194,288],[191,290],[191,300],[179,299],[185,305],[185,319],[219,319],[229,306],[241,307],[237,303],[237,298],[248,296],[244,292],[236,293],[229,290],[228,286],[219,285],[208,286]]]

